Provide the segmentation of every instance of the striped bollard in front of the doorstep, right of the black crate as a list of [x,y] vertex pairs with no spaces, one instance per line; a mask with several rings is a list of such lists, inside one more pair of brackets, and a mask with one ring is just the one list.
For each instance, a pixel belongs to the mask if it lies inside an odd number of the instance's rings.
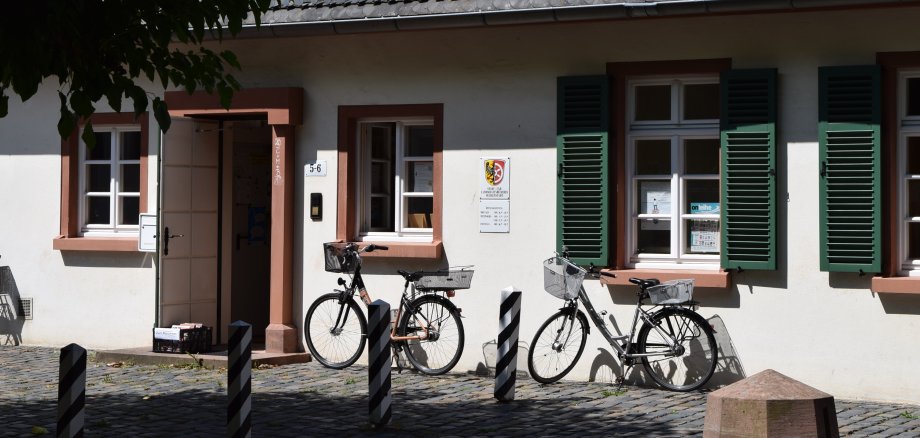
[[252,436],[252,326],[230,324],[227,363],[227,436]]

